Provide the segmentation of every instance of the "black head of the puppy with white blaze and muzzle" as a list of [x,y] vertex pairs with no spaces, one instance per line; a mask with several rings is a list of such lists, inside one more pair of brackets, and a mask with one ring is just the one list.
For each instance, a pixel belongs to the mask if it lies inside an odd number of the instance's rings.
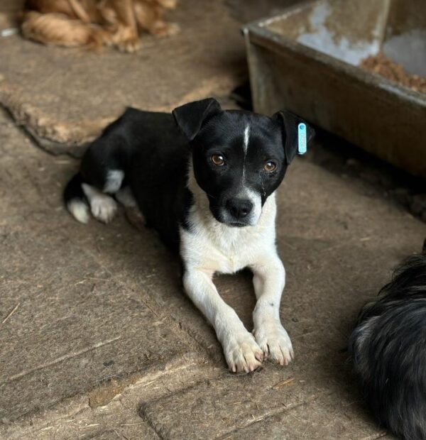
[[[256,225],[297,153],[302,120],[287,111],[226,111],[213,98],[180,106],[173,116],[190,141],[195,179],[214,217],[229,226]],[[307,126],[307,141],[313,133]]]

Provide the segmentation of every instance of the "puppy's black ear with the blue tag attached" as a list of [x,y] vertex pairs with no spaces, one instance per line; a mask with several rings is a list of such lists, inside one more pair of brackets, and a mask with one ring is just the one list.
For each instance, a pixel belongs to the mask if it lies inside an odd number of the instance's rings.
[[310,141],[315,136],[315,130],[299,116],[290,111],[278,111],[272,117],[282,124],[285,160],[289,165],[295,158],[299,148],[299,124],[304,123],[306,126],[307,145],[309,145]]

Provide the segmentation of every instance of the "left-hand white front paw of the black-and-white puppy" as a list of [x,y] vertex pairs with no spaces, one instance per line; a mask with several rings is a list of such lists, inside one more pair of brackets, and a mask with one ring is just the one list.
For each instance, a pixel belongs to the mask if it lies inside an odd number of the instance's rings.
[[223,347],[226,363],[234,373],[250,373],[262,365],[263,351],[245,329],[230,334]]

